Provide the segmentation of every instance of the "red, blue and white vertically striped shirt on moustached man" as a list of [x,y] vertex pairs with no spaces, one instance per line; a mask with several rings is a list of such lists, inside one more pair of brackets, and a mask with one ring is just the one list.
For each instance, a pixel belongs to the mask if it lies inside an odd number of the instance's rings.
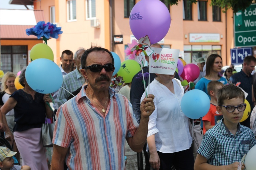
[[103,117],[86,96],[86,87],[60,106],[53,143],[69,148],[69,169],[125,169],[125,138],[139,126],[131,103],[109,88],[110,102]]

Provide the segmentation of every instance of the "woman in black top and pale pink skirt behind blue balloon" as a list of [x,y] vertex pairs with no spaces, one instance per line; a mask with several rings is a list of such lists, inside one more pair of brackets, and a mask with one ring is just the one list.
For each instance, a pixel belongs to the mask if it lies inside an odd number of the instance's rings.
[[[15,91],[1,107],[3,122],[5,115],[14,109],[13,128],[17,148],[22,156],[23,165],[28,165],[35,170],[48,170],[45,149],[43,148],[41,128],[47,118],[52,116],[52,111],[46,104],[50,101],[49,95],[35,92],[28,85],[24,68],[19,75],[19,83],[24,87]],[[7,123],[6,123],[7,124]],[[13,135],[6,127],[5,138],[13,141]]]

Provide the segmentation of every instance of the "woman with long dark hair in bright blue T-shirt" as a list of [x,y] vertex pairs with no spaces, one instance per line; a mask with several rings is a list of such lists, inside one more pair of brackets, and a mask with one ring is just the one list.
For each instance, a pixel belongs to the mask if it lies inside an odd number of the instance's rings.
[[[219,75],[219,72],[222,70],[222,58],[218,54],[211,54],[206,61],[206,75],[200,79],[195,89],[204,91],[207,95],[207,85],[210,81],[216,80],[223,84],[227,84],[227,80],[224,77]],[[210,96],[208,95],[209,99]]]

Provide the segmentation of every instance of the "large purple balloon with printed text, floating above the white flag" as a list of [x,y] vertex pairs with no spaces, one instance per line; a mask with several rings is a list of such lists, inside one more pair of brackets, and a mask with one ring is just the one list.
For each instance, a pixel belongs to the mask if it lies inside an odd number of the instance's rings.
[[158,43],[169,31],[171,16],[159,0],[141,0],[130,13],[130,29],[136,39],[148,35],[151,44]]

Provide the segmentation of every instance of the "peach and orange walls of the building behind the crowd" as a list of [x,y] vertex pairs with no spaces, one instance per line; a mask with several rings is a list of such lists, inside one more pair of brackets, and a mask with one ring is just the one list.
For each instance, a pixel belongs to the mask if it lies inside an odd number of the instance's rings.
[[[130,43],[132,35],[129,27],[129,18],[124,18],[124,1],[114,1],[113,35],[122,34],[123,44],[114,46],[121,61],[124,61],[124,47]],[[138,2],[139,0],[136,0]],[[40,2],[35,5],[39,9]],[[57,40],[48,40],[48,45],[54,52],[54,61],[59,64],[59,57],[63,50],[69,49],[75,52],[79,47],[90,48],[93,45],[110,49],[110,19],[109,19],[109,0],[96,1],[96,17],[99,19],[100,28],[90,27],[90,20],[86,20],[85,0],[76,0],[76,21],[67,21],[67,1],[44,0],[41,1],[41,9],[44,10],[45,18],[49,20],[49,6],[55,3],[56,22],[62,27],[63,34]],[[183,51],[183,45],[221,45],[223,65],[230,63],[230,48],[233,48],[233,19],[232,11],[227,12],[227,37],[226,37],[226,14],[221,14],[221,22],[212,21],[211,0],[207,2],[207,21],[198,21],[197,4],[192,5],[192,21],[183,20],[183,1],[178,5],[170,6],[171,26],[165,36],[165,45]],[[231,31],[232,30],[232,31]],[[189,33],[218,33],[223,36],[219,43],[189,43]],[[185,38],[185,34],[188,38]],[[226,41],[227,38],[227,41]],[[227,44],[227,48],[226,48]],[[111,51],[112,49],[110,49]],[[227,55],[226,55],[227,54]]]

